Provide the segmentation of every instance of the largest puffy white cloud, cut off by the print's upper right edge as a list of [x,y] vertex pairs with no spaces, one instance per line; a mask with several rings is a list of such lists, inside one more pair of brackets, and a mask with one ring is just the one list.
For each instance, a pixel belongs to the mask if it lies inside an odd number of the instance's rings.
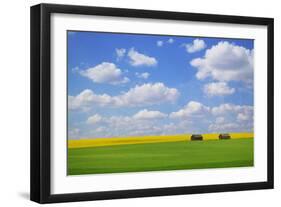
[[190,64],[198,71],[196,77],[210,77],[217,81],[244,81],[253,79],[253,50],[227,41],[219,42],[206,50],[205,56],[193,59]]

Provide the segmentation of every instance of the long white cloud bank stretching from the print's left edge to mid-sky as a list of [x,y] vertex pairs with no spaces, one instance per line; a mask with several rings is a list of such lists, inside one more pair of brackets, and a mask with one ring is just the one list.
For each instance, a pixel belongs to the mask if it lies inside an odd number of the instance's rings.
[[168,88],[163,83],[136,85],[129,91],[118,95],[95,94],[86,89],[77,96],[68,96],[68,107],[74,109],[87,109],[94,105],[122,107],[122,106],[146,106],[164,102],[174,103],[180,93],[175,88]]

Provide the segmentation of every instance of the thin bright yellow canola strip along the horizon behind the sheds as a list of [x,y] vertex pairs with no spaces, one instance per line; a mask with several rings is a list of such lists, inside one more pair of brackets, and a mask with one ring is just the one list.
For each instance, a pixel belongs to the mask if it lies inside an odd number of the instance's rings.
[[[229,133],[231,139],[253,138],[254,133],[241,132]],[[219,134],[202,134],[203,140],[219,139]],[[68,148],[85,148],[85,147],[100,147],[123,144],[144,144],[157,142],[178,142],[190,141],[191,134],[176,134],[176,135],[149,135],[136,137],[112,137],[112,138],[95,138],[95,139],[79,139],[68,140]]]

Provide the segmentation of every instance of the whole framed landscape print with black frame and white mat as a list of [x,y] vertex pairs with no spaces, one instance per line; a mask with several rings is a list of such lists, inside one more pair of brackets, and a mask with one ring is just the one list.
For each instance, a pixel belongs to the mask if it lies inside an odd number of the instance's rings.
[[273,19],[31,7],[31,200],[273,188]]

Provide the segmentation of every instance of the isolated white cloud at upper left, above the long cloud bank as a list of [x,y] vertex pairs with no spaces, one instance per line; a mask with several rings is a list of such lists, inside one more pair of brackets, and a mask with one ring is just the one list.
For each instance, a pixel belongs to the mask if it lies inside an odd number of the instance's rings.
[[112,85],[129,82],[129,78],[123,77],[121,69],[114,63],[103,62],[93,68],[80,71],[82,76],[91,79],[95,83],[108,83]]

